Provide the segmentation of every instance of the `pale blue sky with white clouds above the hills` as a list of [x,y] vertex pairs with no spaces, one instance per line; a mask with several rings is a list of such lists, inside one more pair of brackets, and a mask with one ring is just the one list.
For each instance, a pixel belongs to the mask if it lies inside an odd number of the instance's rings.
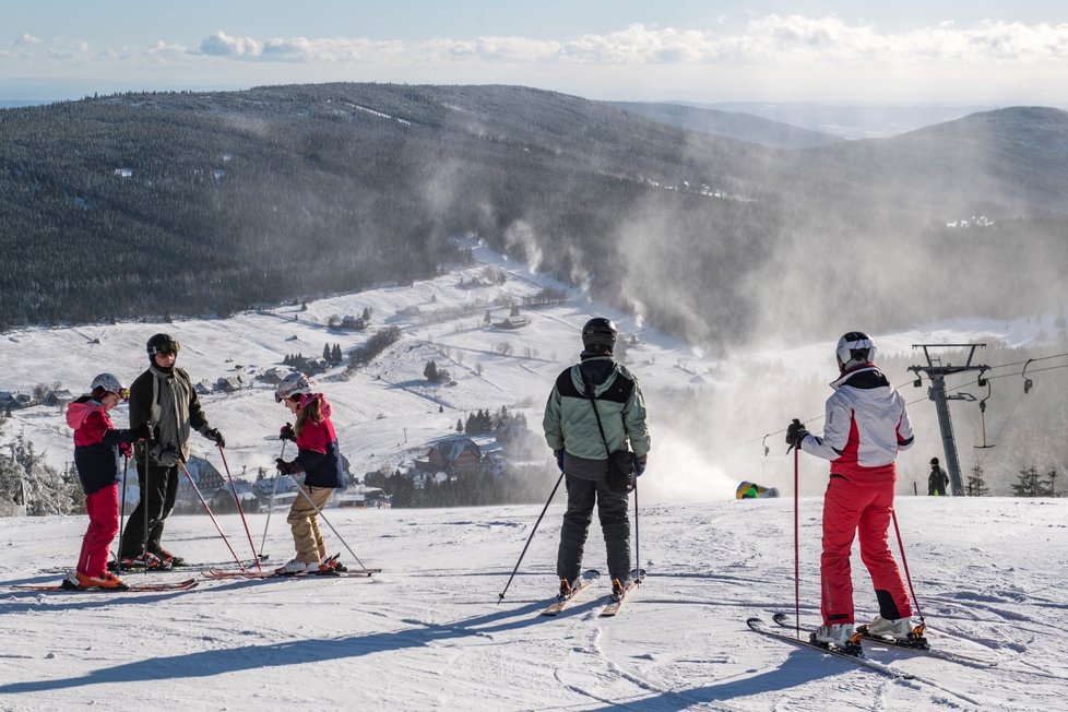
[[0,100],[366,81],[1064,107],[1066,76],[1068,3],[1035,0],[36,0],[0,12]]

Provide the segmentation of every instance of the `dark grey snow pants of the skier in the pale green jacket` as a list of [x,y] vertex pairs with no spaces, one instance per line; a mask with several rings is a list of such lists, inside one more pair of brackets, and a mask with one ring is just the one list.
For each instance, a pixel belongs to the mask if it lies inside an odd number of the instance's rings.
[[608,573],[613,579],[626,581],[630,575],[630,520],[627,519],[628,495],[608,489],[604,479],[583,479],[566,475],[568,509],[560,527],[560,548],[556,556],[556,574],[574,581],[582,569],[582,550],[586,532],[593,520],[593,506],[597,506],[601,533],[605,537],[608,555]]

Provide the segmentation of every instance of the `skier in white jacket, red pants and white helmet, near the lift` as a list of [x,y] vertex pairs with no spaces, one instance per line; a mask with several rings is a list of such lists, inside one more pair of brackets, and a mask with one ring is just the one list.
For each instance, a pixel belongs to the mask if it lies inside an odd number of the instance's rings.
[[861,560],[879,602],[868,626],[874,636],[907,639],[912,606],[887,544],[897,480],[894,459],[913,443],[904,401],[875,367],[875,344],[851,331],[835,352],[841,376],[831,383],[826,427],[810,435],[799,420],[786,430],[786,443],[831,461],[823,497],[823,554],[820,558],[820,612],[816,640],[839,648],[855,644],[850,555],[859,531]]

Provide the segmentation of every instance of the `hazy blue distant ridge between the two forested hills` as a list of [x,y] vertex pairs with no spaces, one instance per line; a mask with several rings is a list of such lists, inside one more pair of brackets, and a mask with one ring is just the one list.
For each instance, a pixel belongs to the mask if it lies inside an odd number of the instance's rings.
[[772,149],[810,149],[838,143],[842,139],[829,133],[799,129],[752,114],[720,111],[683,104],[643,104],[610,102],[625,111],[639,114],[688,131],[711,133],[724,139],[757,143]]

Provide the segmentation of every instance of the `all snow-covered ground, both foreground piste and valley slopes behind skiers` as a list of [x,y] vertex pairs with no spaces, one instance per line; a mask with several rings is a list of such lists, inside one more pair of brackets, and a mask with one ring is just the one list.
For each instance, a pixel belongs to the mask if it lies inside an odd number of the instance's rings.
[[[933,408],[915,406],[926,440],[901,461],[899,520],[919,603],[936,646],[996,661],[993,669],[870,649],[871,657],[917,676],[892,681],[847,662],[750,632],[745,618],[793,610],[793,470],[781,435],[762,456],[761,436],[787,418],[820,412],[821,400],[792,411],[717,395],[697,427],[665,426],[675,402],[702,389],[729,393],[750,364],[716,361],[643,328],[639,320],[591,304],[579,289],[567,302],[524,310],[530,325],[487,328],[494,299],[521,299],[543,287],[566,289],[485,248],[478,264],[404,287],[309,301],[227,320],[27,329],[0,335],[0,390],[37,383],[73,393],[111,370],[128,381],[147,364],[144,342],[166,331],[182,344],[179,365],[194,381],[260,372],[286,354],[318,356],[323,344],[347,351],[368,334],[325,325],[332,315],[372,311],[372,328],[395,324],[402,340],[344,379],[319,380],[334,405],[343,452],[358,477],[426,454],[479,408],[523,410],[535,430],[555,376],[579,351],[579,330],[593,313],[617,320],[637,342],[628,364],[651,402],[653,453],[641,480],[641,561],[645,585],[616,619],[597,617],[607,593],[601,581],[557,619],[537,615],[555,592],[554,561],[562,494],[539,526],[505,602],[508,574],[531,533],[539,505],[459,510],[328,510],[373,580],[209,581],[186,593],[41,594],[12,584],[52,582],[41,568],[70,566],[85,521],[80,517],[0,519],[0,710],[73,709],[325,709],[548,710],[1068,710],[1068,500],[933,499],[903,496],[926,474],[937,430]],[[503,285],[472,286],[485,268],[503,270]],[[464,286],[460,286],[463,280]],[[402,313],[418,307],[422,316]],[[447,313],[448,310],[448,313]],[[428,313],[438,318],[427,319]],[[493,306],[493,321],[508,307]],[[1052,317],[1051,317],[1052,319]],[[878,335],[883,354],[914,343],[997,340],[1030,344],[1048,323],[962,320]],[[97,341],[98,340],[98,341]],[[499,353],[508,344],[509,355]],[[750,361],[776,364],[798,380],[830,380],[827,343],[768,347]],[[423,377],[428,359],[455,385]],[[785,364],[785,366],[783,366]],[[240,368],[238,368],[240,366]],[[910,393],[910,397],[916,394]],[[271,467],[285,411],[258,383],[236,394],[203,397],[212,425],[227,439],[235,475]],[[756,413],[756,414],[755,414]],[[741,416],[745,416],[743,418]],[[126,425],[124,407],[115,420]],[[741,422],[741,425],[738,423]],[[710,454],[695,438],[741,428],[734,448]],[[751,423],[759,429],[748,431]],[[743,427],[744,426],[744,427]],[[55,467],[71,458],[60,408],[15,411],[0,446],[22,434]],[[752,440],[752,438],[756,438]],[[194,452],[216,465],[217,453],[193,436]],[[937,452],[937,451],[935,451]],[[546,454],[548,454],[546,452]],[[818,617],[820,499],[826,463],[802,460],[800,597],[806,622]],[[906,474],[907,473],[907,476]],[[741,478],[778,486],[780,500],[738,502]],[[545,493],[548,496],[548,491]],[[263,514],[249,525],[259,544]],[[248,551],[241,522],[221,517],[239,554]],[[349,556],[332,532],[333,549]],[[225,561],[211,521],[176,517],[165,544],[200,561]],[[895,548],[895,547],[894,547]],[[265,550],[292,554],[284,515],[271,521]],[[596,523],[585,565],[604,567]],[[351,561],[349,561],[351,562]],[[866,573],[854,561],[856,601],[875,613]],[[167,580],[176,573],[130,574]]]

